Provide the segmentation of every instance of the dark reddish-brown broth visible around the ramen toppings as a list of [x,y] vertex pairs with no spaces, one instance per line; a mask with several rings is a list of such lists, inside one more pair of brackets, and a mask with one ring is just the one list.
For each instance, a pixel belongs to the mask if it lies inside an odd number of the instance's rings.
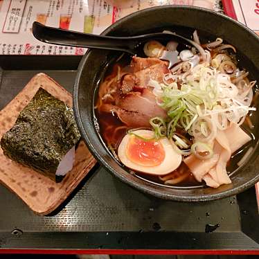
[[[213,50],[214,51],[214,50]],[[211,52],[212,55],[214,55],[213,51]],[[134,67],[132,67],[130,64],[130,60],[128,56],[125,56],[125,58],[120,59],[119,62],[116,62],[112,66],[112,70],[107,70],[107,72],[104,75],[104,78],[102,82],[100,83],[101,87],[103,84],[107,84],[106,89],[109,89],[112,85],[117,85],[120,80],[122,80],[124,75],[127,75],[129,73],[134,73]],[[113,80],[113,82],[111,82]],[[110,86],[109,86],[110,84]],[[100,88],[102,89],[102,88]],[[123,137],[129,132],[130,130],[136,128],[136,127],[129,127],[125,123],[123,123],[122,120],[118,117],[117,113],[118,111],[112,111],[106,112],[103,110],[98,109],[100,105],[116,105],[116,97],[114,98],[113,93],[111,93],[111,96],[107,95],[105,98],[103,98],[103,93],[101,93],[99,89],[98,97],[96,99],[96,109],[95,109],[95,115],[98,120],[98,125],[100,129],[100,136],[102,137],[102,140],[105,142],[105,145],[107,145],[107,148],[109,151],[114,155],[114,158],[120,162],[120,159],[118,159],[118,146],[120,145]],[[112,87],[111,87],[112,89]],[[134,90],[133,90],[134,91]],[[142,91],[137,88],[136,91]],[[108,91],[109,92],[109,91]],[[125,94],[125,93],[123,93]],[[126,93],[127,94],[127,93]],[[116,96],[116,95],[115,95]],[[251,129],[249,129],[249,120],[244,120],[244,123],[242,125],[246,130],[245,132],[251,132]],[[251,127],[251,125],[250,125]],[[152,130],[151,125],[149,127],[141,127],[148,130]],[[176,130],[176,132],[181,134],[187,134],[181,129]],[[251,135],[249,133],[249,135]],[[187,136],[187,138],[190,138],[190,136]],[[191,139],[191,138],[190,138]],[[254,137],[251,137],[252,141],[249,141],[246,145],[243,145],[242,148],[237,150],[231,155],[231,159],[226,164],[226,171],[227,172],[233,172],[238,168],[238,161],[242,159],[244,154],[253,146]],[[172,172],[169,172],[166,175],[157,176],[157,175],[149,175],[145,172],[139,172],[137,170],[131,170],[130,168],[127,168],[127,166],[124,166],[126,170],[129,171],[129,173],[132,173],[134,175],[137,175],[143,179],[147,179],[148,181],[152,181],[156,184],[166,184],[169,186],[201,186],[204,185],[204,181],[199,182],[195,179],[192,172],[186,166],[186,163],[184,163],[184,156],[183,161],[181,161],[181,164],[179,167],[177,167],[176,170],[173,170]],[[167,179],[168,178],[168,179]],[[174,181],[176,179],[176,181]]]

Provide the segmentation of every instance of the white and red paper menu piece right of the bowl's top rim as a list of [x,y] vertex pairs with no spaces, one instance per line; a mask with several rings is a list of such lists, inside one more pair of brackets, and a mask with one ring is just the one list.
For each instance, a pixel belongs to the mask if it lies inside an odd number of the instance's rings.
[[259,35],[259,0],[222,0],[226,15],[237,19]]

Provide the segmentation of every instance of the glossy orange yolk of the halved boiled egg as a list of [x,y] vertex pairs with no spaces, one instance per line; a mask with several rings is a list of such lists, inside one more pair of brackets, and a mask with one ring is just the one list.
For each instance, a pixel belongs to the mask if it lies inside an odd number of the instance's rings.
[[158,141],[145,141],[136,136],[130,136],[126,156],[140,166],[159,166],[166,154],[163,145]]

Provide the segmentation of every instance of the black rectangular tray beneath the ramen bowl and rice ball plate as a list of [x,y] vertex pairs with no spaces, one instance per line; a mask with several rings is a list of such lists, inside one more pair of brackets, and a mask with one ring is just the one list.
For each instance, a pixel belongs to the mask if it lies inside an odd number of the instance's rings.
[[[40,72],[71,92],[79,62],[80,57],[68,56],[0,56],[0,109]],[[170,202],[130,188],[97,165],[51,215],[35,215],[4,186],[0,186],[0,204],[0,252],[6,249],[259,251],[254,188],[214,202]],[[208,224],[218,227],[206,233]]]

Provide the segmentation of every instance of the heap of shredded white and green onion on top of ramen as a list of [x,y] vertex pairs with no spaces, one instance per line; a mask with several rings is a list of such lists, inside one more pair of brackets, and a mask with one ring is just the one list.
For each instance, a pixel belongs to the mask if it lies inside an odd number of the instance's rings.
[[170,139],[177,128],[182,128],[196,141],[212,141],[217,129],[225,130],[230,123],[242,124],[249,111],[256,109],[249,107],[251,101],[247,101],[253,97],[252,91],[250,95],[246,89],[245,94],[240,93],[226,73],[206,62],[190,72],[181,81],[153,84],[156,91],[159,89],[157,102],[168,114],[164,123],[150,123],[156,138],[167,134]]

